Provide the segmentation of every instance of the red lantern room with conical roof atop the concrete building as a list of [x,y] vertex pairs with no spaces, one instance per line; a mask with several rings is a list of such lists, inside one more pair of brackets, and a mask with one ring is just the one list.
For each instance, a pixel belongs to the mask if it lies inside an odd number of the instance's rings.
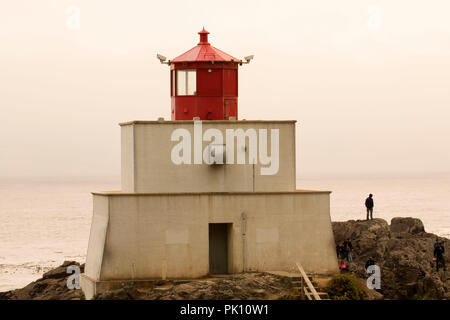
[[213,47],[209,32],[198,33],[200,42],[194,48],[161,63],[170,65],[170,95],[172,120],[237,120],[238,66],[249,63]]

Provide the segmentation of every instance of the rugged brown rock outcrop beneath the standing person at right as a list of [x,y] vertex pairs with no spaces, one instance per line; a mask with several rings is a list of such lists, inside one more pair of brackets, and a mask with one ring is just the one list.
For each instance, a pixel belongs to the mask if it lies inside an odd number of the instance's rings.
[[[333,222],[336,244],[350,239],[353,262],[350,271],[367,278],[365,262],[375,256],[381,269],[381,289],[386,299],[450,299],[450,272],[436,272],[433,249],[436,238],[414,218]],[[445,244],[447,250],[448,246]]]

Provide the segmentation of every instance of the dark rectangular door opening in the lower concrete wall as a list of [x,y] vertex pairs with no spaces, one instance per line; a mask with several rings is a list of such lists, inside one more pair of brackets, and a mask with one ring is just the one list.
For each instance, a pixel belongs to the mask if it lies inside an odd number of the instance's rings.
[[228,273],[228,223],[209,224],[209,272]]

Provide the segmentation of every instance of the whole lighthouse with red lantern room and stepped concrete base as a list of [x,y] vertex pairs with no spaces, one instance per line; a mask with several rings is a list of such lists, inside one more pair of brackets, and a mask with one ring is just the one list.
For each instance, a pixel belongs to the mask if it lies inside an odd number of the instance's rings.
[[199,35],[172,60],[158,55],[170,66],[171,119],[119,124],[121,190],[93,192],[87,299],[296,263],[338,272],[330,191],[296,187],[297,121],[239,120],[238,68],[252,56],[233,58]]

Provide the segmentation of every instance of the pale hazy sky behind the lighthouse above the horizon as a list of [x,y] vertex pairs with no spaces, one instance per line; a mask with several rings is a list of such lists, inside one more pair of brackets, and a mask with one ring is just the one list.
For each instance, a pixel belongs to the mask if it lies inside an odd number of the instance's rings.
[[156,53],[203,26],[255,55],[240,118],[298,121],[298,175],[449,172],[449,14],[448,0],[0,0],[0,176],[118,176],[117,124],[170,118]]

